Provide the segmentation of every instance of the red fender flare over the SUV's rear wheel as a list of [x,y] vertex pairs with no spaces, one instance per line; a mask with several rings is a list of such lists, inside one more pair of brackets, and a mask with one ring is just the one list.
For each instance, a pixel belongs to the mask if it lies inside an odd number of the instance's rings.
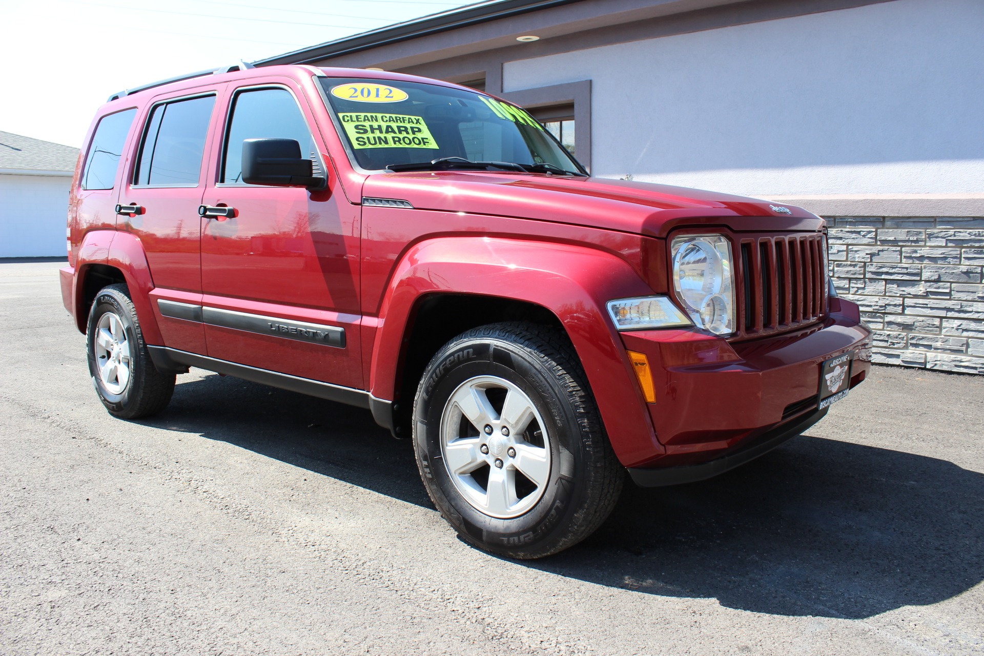
[[76,324],[80,330],[86,331],[86,318],[89,309],[83,306],[83,292],[87,269],[92,265],[106,265],[117,268],[123,273],[123,279],[130,289],[130,297],[137,310],[137,319],[148,344],[162,344],[160,328],[151,307],[148,294],[154,289],[154,278],[147,264],[147,255],[140,240],[129,232],[110,230],[93,230],[83,240],[76,261],[75,304]]

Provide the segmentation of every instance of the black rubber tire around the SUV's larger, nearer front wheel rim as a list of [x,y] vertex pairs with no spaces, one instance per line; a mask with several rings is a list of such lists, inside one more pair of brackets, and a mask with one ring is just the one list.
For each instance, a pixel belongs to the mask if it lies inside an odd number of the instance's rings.
[[[453,479],[442,450],[443,423],[453,427],[458,421],[458,415],[445,415],[446,405],[447,412],[453,412],[449,399],[462,388],[474,387],[492,377],[525,394],[525,400],[531,401],[542,418],[548,438],[540,443],[550,453],[549,475],[543,476],[547,482],[535,486],[535,494],[541,496],[519,516],[491,516],[469,502],[462,494],[462,489],[465,494],[470,493],[467,487],[461,487],[461,474]],[[488,398],[491,402],[491,397]],[[468,425],[473,422],[463,416],[461,409],[459,412],[461,426],[470,431]],[[500,419],[506,421],[505,417]],[[534,425],[535,422],[530,424]],[[488,440],[482,435],[487,430],[476,428],[480,434],[468,433],[467,438],[477,440],[478,444],[487,442],[479,449],[485,455],[477,457],[493,457],[487,454],[490,447],[501,452],[501,444],[492,444],[492,438],[498,439],[501,428],[493,429]],[[536,439],[536,433],[529,434],[529,430],[532,429],[526,429],[523,438],[514,436],[514,440],[523,440],[527,434],[533,436],[528,439]],[[461,437],[461,430],[446,432]],[[461,538],[480,549],[515,559],[542,558],[584,540],[615,507],[625,478],[625,469],[608,442],[584,370],[567,335],[534,324],[503,323],[473,328],[438,351],[427,366],[414,399],[413,445],[427,493]],[[515,455],[516,451],[511,449],[510,453]],[[505,475],[509,468],[507,463],[504,469],[499,459],[494,466],[500,472],[493,471],[492,464],[480,466],[488,468],[491,472],[488,475],[499,476]],[[480,471],[483,470],[475,470]],[[524,476],[521,478],[528,489],[529,481]],[[480,487],[478,473],[472,480]],[[491,499],[489,488],[491,485],[486,483],[485,494]],[[519,489],[517,484],[514,490]]]

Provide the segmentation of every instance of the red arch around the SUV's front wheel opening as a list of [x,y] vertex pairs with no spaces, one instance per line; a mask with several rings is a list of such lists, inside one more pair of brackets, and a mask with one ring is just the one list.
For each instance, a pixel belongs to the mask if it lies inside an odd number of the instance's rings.
[[[373,338],[370,391],[395,401],[394,423],[400,428],[419,374],[450,338],[501,321],[554,325],[581,359],[619,459],[651,457],[662,447],[605,310],[613,298],[651,293],[624,260],[589,247],[495,237],[421,242],[394,268],[384,297]],[[447,315],[476,307],[481,310],[468,321]]]

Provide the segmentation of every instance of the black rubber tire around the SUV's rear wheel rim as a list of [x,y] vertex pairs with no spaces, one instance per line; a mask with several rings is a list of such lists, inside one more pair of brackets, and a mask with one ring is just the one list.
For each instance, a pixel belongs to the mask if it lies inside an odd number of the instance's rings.
[[[100,321],[109,313],[119,320],[127,341],[133,345],[128,348],[128,380],[121,389],[110,388],[99,375],[96,332]],[[92,311],[89,313],[86,345],[92,386],[111,415],[120,419],[140,419],[157,414],[167,407],[174,392],[174,374],[162,374],[154,367],[147,344],[144,343],[137,311],[125,284],[103,287],[95,295]]]

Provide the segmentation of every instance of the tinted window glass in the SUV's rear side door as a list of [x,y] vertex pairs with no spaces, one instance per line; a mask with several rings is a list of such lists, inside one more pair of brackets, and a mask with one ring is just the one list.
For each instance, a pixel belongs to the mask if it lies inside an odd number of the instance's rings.
[[197,185],[215,96],[154,107],[134,176],[138,185]]

